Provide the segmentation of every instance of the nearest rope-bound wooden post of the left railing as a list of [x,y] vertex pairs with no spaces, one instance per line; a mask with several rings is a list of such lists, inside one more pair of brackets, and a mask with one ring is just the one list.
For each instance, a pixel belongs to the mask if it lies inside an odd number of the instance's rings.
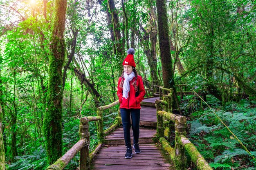
[[[86,119],[84,117],[83,119]],[[90,169],[90,156],[89,156],[89,146],[90,146],[90,132],[88,118],[87,121],[80,121],[79,135],[80,139],[86,139],[86,143],[80,151],[80,170]]]

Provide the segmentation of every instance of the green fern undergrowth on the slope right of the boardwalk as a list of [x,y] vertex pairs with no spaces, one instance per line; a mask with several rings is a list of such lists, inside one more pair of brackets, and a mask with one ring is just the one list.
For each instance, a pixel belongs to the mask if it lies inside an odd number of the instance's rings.
[[[253,101],[241,100],[221,106],[214,98],[208,104],[240,139],[252,155],[256,155],[256,105]],[[193,104],[191,104],[193,102]],[[191,108],[191,107],[194,108]],[[182,103],[188,118],[188,137],[202,156],[215,170],[256,170],[256,162],[243,149],[233,135],[225,128],[214,113],[193,97]],[[203,109],[202,109],[203,108]],[[188,158],[188,166],[191,166]],[[194,165],[191,166],[196,169]]]

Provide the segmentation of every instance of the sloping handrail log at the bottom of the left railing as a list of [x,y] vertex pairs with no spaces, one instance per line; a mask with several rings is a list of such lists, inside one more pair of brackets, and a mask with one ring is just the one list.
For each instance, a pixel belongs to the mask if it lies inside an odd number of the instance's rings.
[[74,156],[81,150],[81,148],[83,148],[86,143],[86,139],[79,140],[70,150],[65,153],[65,155],[58,159],[54,164],[48,166],[46,170],[63,170],[67,163],[69,163],[71,159],[74,158]]

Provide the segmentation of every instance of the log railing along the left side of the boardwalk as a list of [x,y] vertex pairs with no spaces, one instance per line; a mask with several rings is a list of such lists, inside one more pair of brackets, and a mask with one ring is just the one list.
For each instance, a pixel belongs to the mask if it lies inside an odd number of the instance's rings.
[[[71,159],[73,159],[74,156],[79,151],[80,151],[79,170],[89,170],[90,162],[95,157],[98,150],[101,148],[104,141],[104,137],[121,124],[121,113],[120,113],[120,110],[118,110],[118,115],[115,118],[114,124],[110,126],[108,129],[103,130],[103,111],[117,104],[119,104],[119,100],[109,105],[101,106],[97,108],[97,116],[82,117],[80,119],[80,126],[79,126],[80,140],[76,144],[74,144],[74,146],[70,150],[68,150],[65,153],[65,155],[63,155],[60,159],[58,159],[54,164],[48,166],[46,170],[63,170],[63,168],[65,168],[67,163],[69,163]],[[90,146],[89,122],[90,121],[97,121],[97,136],[99,139],[98,145],[95,147],[95,149],[91,153],[89,153],[89,146]]]

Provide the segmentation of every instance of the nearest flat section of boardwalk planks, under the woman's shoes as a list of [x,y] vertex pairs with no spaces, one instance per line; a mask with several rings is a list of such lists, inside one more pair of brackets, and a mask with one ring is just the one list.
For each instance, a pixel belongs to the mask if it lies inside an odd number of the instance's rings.
[[[91,170],[170,170],[163,153],[154,144],[141,144],[141,153],[125,159],[126,146],[104,146],[92,161]],[[134,150],[133,150],[134,151]],[[174,170],[174,169],[173,169]]]

